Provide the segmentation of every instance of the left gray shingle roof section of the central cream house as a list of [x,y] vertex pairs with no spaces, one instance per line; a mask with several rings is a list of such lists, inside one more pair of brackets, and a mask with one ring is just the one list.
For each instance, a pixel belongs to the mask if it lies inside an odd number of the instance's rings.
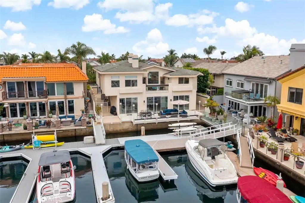
[[150,64],[139,62],[139,67],[134,68],[132,64],[129,63],[127,60],[119,61],[115,63],[105,64],[102,66],[95,66],[94,69],[100,72],[137,72],[137,71],[145,71],[141,68],[149,67]]

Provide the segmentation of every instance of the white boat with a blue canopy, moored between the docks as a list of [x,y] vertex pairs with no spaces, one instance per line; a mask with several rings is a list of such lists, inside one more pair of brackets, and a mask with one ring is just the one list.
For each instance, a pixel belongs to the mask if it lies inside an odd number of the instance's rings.
[[124,156],[127,168],[139,182],[151,181],[159,177],[159,158],[146,142],[125,141]]

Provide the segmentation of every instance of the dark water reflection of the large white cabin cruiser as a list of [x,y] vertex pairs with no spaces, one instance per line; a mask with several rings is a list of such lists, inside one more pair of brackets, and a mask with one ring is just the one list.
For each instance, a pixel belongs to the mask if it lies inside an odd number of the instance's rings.
[[224,202],[225,196],[236,191],[237,184],[211,187],[201,176],[197,173],[196,169],[192,166],[190,160],[185,163],[185,170],[187,171],[192,183],[196,186],[197,196],[202,202]]

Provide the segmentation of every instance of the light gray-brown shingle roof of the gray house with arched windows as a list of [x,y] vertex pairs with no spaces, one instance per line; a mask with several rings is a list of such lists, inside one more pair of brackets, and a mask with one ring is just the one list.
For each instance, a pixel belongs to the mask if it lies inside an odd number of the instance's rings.
[[224,70],[222,73],[261,78],[276,78],[290,70],[289,57],[290,56],[284,55],[254,56],[251,59]]

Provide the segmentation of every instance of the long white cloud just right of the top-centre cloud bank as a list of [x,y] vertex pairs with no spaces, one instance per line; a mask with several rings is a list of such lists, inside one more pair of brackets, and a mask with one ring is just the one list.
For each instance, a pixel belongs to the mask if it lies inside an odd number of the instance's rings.
[[194,25],[206,25],[213,23],[214,17],[218,16],[219,13],[211,12],[209,10],[203,10],[201,12],[184,15],[184,14],[176,14],[165,21],[166,25],[169,26],[185,26],[192,27]]

